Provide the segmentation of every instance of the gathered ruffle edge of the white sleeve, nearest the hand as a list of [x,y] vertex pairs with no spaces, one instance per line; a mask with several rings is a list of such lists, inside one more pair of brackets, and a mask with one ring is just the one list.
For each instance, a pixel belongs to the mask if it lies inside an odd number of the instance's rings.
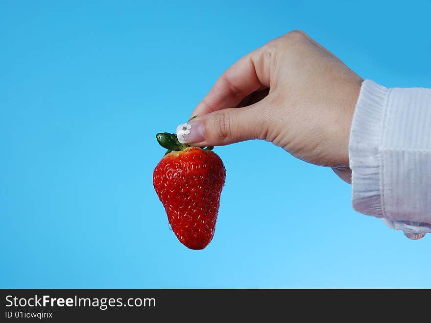
[[375,217],[383,217],[380,146],[389,91],[371,80],[363,81],[349,139],[353,208]]

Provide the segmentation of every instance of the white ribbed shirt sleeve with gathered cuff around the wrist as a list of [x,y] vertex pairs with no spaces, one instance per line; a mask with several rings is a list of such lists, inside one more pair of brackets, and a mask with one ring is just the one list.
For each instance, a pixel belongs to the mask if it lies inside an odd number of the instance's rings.
[[431,89],[362,83],[349,139],[353,208],[408,238],[431,232]]

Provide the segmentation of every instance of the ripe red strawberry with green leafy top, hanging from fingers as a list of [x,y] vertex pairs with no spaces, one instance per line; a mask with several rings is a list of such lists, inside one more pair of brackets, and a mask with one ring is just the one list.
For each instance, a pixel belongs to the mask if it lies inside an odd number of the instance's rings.
[[154,169],[153,185],[178,240],[190,249],[203,249],[216,229],[226,170],[213,147],[180,144],[176,134],[158,133],[168,149]]

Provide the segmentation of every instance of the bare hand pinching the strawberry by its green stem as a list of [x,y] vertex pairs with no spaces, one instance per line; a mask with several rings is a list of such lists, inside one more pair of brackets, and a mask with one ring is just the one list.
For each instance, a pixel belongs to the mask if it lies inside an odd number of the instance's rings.
[[245,55],[196,106],[178,139],[194,146],[266,140],[351,181],[348,142],[362,79],[302,31]]

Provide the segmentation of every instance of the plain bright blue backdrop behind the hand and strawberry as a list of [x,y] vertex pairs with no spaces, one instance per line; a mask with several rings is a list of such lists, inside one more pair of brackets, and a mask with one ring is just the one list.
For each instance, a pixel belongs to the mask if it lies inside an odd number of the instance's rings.
[[1,1],[0,287],[431,287],[431,236],[356,213],[330,169],[218,147],[212,243],[181,245],[154,135],[303,29],[363,78],[431,87],[429,1]]

